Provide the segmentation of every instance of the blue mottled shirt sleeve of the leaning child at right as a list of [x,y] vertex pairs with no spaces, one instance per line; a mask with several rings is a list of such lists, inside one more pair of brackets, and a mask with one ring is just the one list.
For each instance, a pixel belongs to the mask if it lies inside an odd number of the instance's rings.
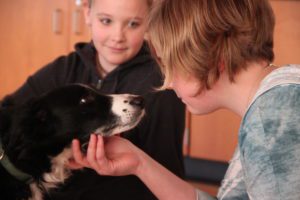
[[240,130],[241,163],[252,199],[300,199],[300,85],[258,97]]

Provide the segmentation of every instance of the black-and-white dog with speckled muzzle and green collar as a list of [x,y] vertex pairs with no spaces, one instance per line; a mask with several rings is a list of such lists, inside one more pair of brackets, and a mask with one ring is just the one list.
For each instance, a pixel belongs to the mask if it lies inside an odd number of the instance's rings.
[[103,95],[82,84],[63,86],[16,105],[0,107],[0,199],[42,200],[71,170],[71,141],[91,133],[111,136],[134,128],[144,115],[137,95]]

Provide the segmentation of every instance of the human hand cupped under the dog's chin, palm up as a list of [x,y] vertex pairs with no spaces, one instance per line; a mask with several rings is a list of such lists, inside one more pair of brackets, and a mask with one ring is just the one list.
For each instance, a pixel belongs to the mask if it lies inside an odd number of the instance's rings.
[[73,169],[92,168],[101,175],[122,176],[135,174],[140,164],[140,153],[130,141],[118,137],[102,137],[92,134],[86,156],[80,150],[78,140],[72,142],[75,162],[70,162]]

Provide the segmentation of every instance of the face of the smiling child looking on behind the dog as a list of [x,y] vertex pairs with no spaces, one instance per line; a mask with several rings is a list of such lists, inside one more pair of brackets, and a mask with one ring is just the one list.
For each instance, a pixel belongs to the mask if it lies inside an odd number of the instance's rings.
[[140,50],[149,8],[146,0],[94,0],[85,18],[101,65],[112,68]]

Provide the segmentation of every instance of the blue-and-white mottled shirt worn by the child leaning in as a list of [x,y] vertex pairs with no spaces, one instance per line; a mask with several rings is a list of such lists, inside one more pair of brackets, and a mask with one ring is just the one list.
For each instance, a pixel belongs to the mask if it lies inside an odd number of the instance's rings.
[[[198,200],[215,199],[197,190]],[[261,82],[217,199],[300,200],[300,66]]]

